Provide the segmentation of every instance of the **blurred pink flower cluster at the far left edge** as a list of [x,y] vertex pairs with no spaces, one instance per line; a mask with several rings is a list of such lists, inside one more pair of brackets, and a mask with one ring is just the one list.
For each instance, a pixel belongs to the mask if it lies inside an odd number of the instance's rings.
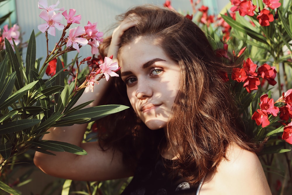
[[13,40],[15,42],[15,45],[20,44],[20,32],[19,32],[19,26],[17,24],[14,24],[11,28],[8,29],[8,25],[4,25],[3,32],[1,34],[1,28],[0,28],[0,51],[2,49],[6,49],[5,46],[5,38],[10,42],[12,48],[13,46]]

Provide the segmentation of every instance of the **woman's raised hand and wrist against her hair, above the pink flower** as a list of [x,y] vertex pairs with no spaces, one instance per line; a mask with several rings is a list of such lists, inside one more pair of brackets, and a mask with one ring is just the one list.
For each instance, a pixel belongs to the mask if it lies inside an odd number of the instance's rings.
[[109,46],[108,56],[113,55],[113,60],[117,61],[117,54],[119,50],[119,44],[121,42],[121,36],[124,34],[126,30],[135,26],[138,22],[138,16],[135,14],[130,14],[125,18],[121,24],[114,29],[112,33],[112,41]]

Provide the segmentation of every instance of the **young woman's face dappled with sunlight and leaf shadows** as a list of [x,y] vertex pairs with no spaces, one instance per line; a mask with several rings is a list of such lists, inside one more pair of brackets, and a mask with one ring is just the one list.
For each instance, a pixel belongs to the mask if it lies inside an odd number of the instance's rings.
[[131,105],[152,130],[165,128],[180,86],[180,68],[155,44],[139,37],[121,48],[121,78]]

